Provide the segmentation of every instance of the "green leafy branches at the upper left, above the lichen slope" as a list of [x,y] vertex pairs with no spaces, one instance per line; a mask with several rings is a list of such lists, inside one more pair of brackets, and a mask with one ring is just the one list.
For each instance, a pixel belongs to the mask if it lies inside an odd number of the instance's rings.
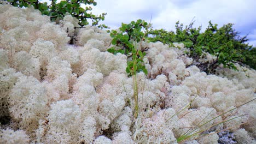
[[57,0],[51,1],[50,5],[46,2],[40,3],[38,0],[7,0],[7,2],[15,7],[34,7],[41,11],[42,14],[51,17],[51,21],[58,22],[62,20],[66,13],[71,14],[79,20],[79,25],[88,25],[88,19],[91,19],[92,25],[97,25],[99,21],[104,20],[106,13],[99,16],[89,13],[92,10],[91,7],[82,8],[81,4],[85,5],[97,5],[94,0],[66,0],[57,3]]

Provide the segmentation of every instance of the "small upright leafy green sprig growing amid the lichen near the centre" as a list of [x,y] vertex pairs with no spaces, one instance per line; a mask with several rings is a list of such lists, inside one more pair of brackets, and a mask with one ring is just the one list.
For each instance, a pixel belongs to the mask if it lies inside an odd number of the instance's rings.
[[[112,45],[119,46],[121,49],[115,49],[112,47],[108,49],[111,53],[122,53],[127,55],[127,57],[132,57],[132,61],[127,62],[126,72],[129,76],[143,71],[146,75],[148,71],[143,64],[143,58],[146,55],[144,50],[137,50],[137,43],[139,41],[144,41],[146,33],[150,25],[144,20],[132,21],[129,24],[122,23],[119,28],[120,32],[112,31],[110,37],[113,38]],[[143,30],[145,32],[143,32]]]

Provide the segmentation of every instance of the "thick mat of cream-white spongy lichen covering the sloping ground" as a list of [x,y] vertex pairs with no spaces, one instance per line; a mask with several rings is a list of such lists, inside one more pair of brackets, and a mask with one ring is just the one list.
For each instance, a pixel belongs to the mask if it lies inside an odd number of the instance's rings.
[[255,70],[207,75],[187,67],[193,59],[183,44],[141,41],[151,77],[136,74],[135,118],[127,56],[106,52],[109,33],[11,5],[0,5],[0,19],[0,143],[218,143],[226,134],[255,143]]

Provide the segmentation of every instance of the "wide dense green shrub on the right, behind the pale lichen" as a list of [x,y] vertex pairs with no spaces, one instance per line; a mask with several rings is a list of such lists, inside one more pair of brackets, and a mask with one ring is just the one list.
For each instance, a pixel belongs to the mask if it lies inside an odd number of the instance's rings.
[[[219,64],[236,69],[235,63],[245,63],[255,68],[255,62],[252,62],[252,59],[255,59],[255,55],[253,55],[255,49],[246,44],[247,37],[240,37],[232,26],[233,24],[228,23],[218,28],[217,24],[213,25],[210,21],[205,32],[201,33],[201,27],[193,28],[193,22],[184,27],[178,21],[175,33],[164,29],[152,30],[149,34],[152,34],[153,37],[150,37],[149,40],[161,41],[164,44],[184,43],[190,50],[188,54],[194,59],[194,64],[202,71],[211,72]],[[211,63],[199,63],[203,52],[208,52],[217,58]]]

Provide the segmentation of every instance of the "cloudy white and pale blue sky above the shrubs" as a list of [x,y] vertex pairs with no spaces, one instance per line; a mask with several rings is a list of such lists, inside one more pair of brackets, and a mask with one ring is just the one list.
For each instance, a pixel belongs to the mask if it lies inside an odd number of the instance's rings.
[[208,21],[223,26],[234,23],[241,35],[248,34],[249,44],[256,46],[256,1],[255,0],[95,0],[92,13],[107,13],[101,23],[115,29],[121,23],[137,19],[150,21],[153,28],[174,30],[179,20],[189,25],[195,20],[195,26],[206,28]]

